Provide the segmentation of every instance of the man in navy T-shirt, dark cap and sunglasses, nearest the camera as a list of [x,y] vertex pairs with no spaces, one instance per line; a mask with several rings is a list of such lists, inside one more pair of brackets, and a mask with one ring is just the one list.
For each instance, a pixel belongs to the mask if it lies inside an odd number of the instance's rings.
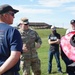
[[0,75],[19,75],[22,39],[19,31],[10,26],[17,12],[8,4],[0,6]]

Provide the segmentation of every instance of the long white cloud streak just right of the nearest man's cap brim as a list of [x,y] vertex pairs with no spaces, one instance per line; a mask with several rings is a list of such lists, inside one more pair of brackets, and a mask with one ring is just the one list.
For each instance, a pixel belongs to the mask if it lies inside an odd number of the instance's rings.
[[19,13],[26,13],[26,14],[51,14],[52,10],[50,9],[43,9],[43,8],[27,8],[25,6],[15,6],[16,9],[19,9]]

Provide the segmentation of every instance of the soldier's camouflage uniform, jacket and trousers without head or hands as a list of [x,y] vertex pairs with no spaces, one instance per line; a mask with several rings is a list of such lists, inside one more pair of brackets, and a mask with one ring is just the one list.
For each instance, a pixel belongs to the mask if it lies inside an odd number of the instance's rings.
[[41,38],[36,31],[31,29],[19,30],[23,40],[23,44],[26,44],[27,52],[22,54],[21,60],[23,63],[23,75],[30,75],[30,68],[34,75],[41,75],[41,63],[38,58],[38,53],[35,48],[35,43],[42,43]]

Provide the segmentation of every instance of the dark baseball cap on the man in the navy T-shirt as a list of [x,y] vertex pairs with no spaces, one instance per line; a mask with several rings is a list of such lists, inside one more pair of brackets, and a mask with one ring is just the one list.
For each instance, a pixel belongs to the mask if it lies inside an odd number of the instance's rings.
[[12,11],[14,13],[19,12],[19,10],[14,9],[12,6],[8,4],[0,5],[0,14],[4,14],[9,11]]

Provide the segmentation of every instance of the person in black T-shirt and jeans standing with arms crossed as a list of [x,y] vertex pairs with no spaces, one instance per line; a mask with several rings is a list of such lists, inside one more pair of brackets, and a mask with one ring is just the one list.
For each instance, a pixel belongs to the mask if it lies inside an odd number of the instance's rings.
[[57,32],[55,26],[51,26],[51,34],[48,36],[48,43],[49,47],[49,59],[48,59],[48,74],[52,73],[52,60],[53,56],[56,59],[58,72],[62,73],[62,68],[60,64],[60,51],[59,51],[59,44],[60,44],[60,34]]

